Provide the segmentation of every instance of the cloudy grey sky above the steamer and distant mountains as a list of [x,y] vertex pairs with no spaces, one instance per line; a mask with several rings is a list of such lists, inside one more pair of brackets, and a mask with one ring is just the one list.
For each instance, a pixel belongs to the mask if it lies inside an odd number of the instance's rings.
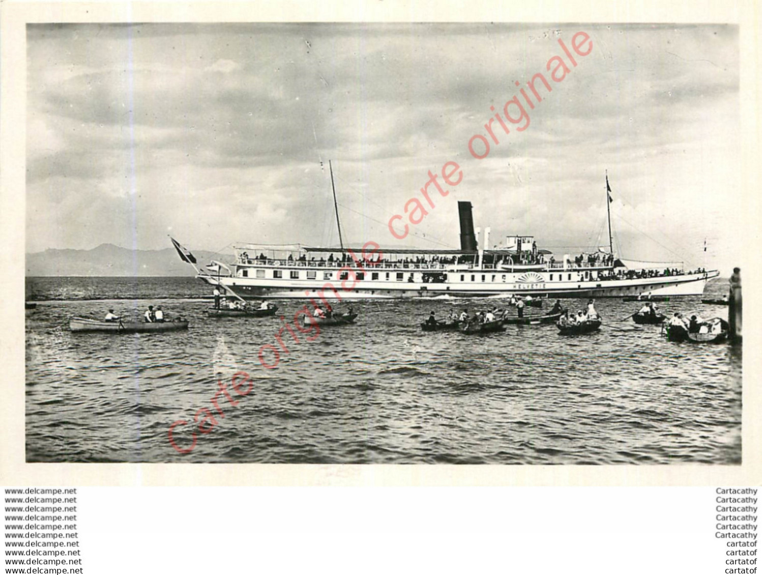
[[[580,30],[591,54],[473,158],[490,107]],[[620,254],[725,271],[738,127],[729,25],[30,25],[27,251],[338,244],[330,159],[345,242],[456,248],[470,200],[490,244],[605,245],[608,171]],[[447,161],[463,181],[392,238]]]

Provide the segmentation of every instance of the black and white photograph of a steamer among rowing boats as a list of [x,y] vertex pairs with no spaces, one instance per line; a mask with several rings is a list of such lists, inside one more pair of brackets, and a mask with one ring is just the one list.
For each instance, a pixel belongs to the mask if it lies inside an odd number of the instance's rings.
[[26,462],[740,466],[740,76],[736,24],[27,24]]

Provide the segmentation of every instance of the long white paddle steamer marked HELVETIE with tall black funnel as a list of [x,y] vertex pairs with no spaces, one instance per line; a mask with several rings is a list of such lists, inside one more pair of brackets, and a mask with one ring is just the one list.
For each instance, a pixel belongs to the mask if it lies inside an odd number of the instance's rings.
[[[607,184],[608,187],[608,184]],[[334,192],[335,194],[335,192]],[[607,201],[607,204],[609,202]],[[700,295],[717,270],[664,273],[628,270],[610,251],[585,258],[559,256],[536,247],[532,236],[510,235],[501,248],[483,244],[473,227],[472,206],[458,202],[459,250],[382,249],[376,265],[358,250],[302,245],[234,246],[235,264],[217,267],[217,275],[198,277],[222,285],[245,299],[397,299],[482,298],[506,295],[550,298],[601,298],[626,295]],[[339,237],[341,238],[341,225]],[[216,263],[219,264],[219,263]]]

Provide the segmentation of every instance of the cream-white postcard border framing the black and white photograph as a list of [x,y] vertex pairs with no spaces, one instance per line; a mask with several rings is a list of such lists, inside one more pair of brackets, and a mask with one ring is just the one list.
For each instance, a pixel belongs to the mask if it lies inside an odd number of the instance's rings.
[[[3,2],[0,5],[0,484],[135,485],[752,485],[762,480],[760,389],[760,232],[758,190],[760,11],[744,2],[567,2],[553,11],[528,2]],[[25,461],[26,24],[46,22],[548,22],[729,23],[739,26],[742,204],[747,331],[743,360],[741,465],[270,465],[57,464]],[[690,65],[690,62],[687,63]],[[711,138],[711,134],[707,134]],[[724,193],[725,190],[718,190]],[[754,286],[754,294],[750,290]],[[749,327],[754,327],[749,329]]]

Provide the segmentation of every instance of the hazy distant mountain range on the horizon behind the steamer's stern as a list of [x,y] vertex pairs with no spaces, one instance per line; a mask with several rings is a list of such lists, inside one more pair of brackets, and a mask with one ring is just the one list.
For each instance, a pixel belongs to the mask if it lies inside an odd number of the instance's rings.
[[[194,251],[199,264],[229,263],[232,256]],[[174,248],[130,250],[101,244],[91,250],[48,249],[27,254],[27,276],[194,276]]]

